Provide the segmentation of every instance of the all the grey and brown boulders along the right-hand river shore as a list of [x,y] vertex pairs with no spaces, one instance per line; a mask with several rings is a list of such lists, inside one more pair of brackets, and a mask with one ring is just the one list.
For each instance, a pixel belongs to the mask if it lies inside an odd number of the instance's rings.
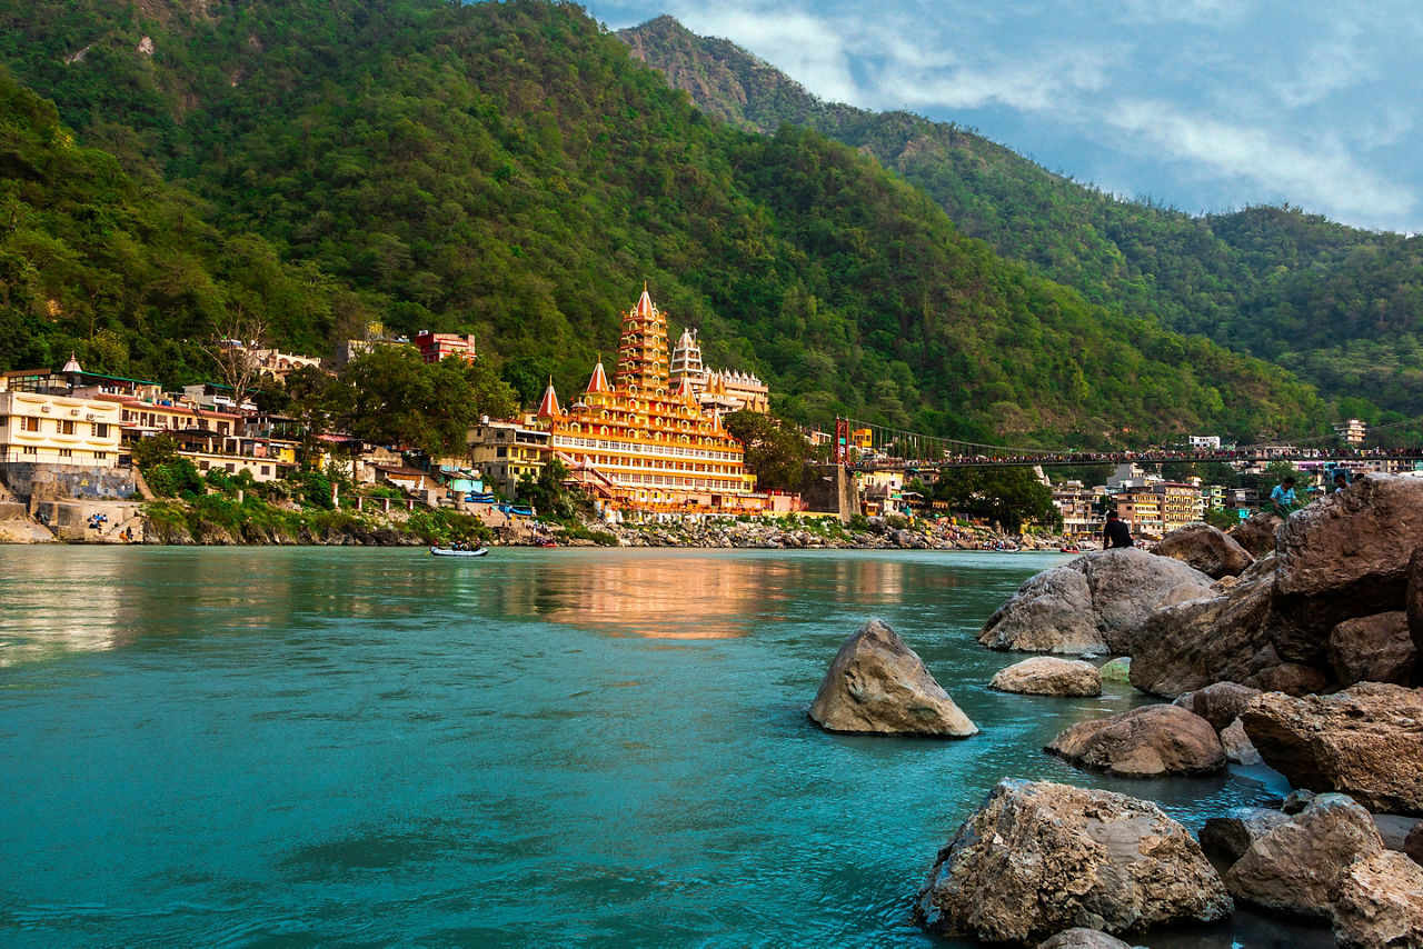
[[[1157,549],[1089,553],[1025,582],[979,642],[1043,654],[990,687],[1094,694],[1106,669],[1081,659],[1114,656],[1134,687],[1174,701],[1076,723],[1044,753],[1153,780],[1262,763],[1295,791],[1197,837],[1150,801],[1005,777],[939,852],[918,922],[979,942],[1123,946],[1116,936],[1249,905],[1332,926],[1340,946],[1423,946],[1423,478],[1368,475],[1288,521],[1261,515],[1235,536],[1192,525]],[[811,717],[941,734],[921,713],[952,699],[892,633],[868,629]],[[905,693],[915,677],[928,683]]]

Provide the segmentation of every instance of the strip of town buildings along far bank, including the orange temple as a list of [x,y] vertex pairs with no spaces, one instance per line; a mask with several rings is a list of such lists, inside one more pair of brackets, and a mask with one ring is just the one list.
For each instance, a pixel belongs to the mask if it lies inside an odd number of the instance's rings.
[[[268,383],[285,384],[297,370],[332,371],[333,360],[239,340],[225,344],[226,356],[240,361],[245,376]],[[474,337],[423,332],[413,340],[350,340],[334,361],[381,346],[413,347],[427,364],[478,360]],[[342,497],[340,479],[332,482],[330,497],[320,498],[323,507],[366,511],[374,502],[381,514],[393,504],[397,512],[451,508],[491,528],[512,528],[509,536],[529,541],[541,536],[534,521],[538,512],[514,502],[521,485],[539,482],[546,471],[558,472],[562,488],[586,497],[596,519],[606,524],[797,514],[842,522],[858,515],[975,525],[975,518],[935,497],[943,470],[936,462],[943,458],[894,458],[877,447],[872,428],[851,428],[844,421],[834,434],[801,431],[807,447],[820,448],[822,455],[803,491],[758,489],[744,447],[723,424],[739,411],[770,411],[766,383],[753,374],[706,367],[690,327],[669,346],[667,314],[646,287],[623,313],[612,376],[599,359],[582,391],[564,397],[551,378],[536,408],[515,418],[481,417],[468,428],[465,451],[445,457],[401,444],[373,444],[350,433],[313,434],[297,418],[259,410],[240,387],[205,383],[171,391],[155,381],[87,371],[71,357],[54,371],[0,376],[0,515],[23,521],[30,539],[47,534],[64,541],[139,539],[142,502],[152,501],[155,492],[134,462],[135,445],[164,435],[209,482],[236,478],[258,487],[303,471],[339,470],[353,491]],[[1359,420],[1336,430],[1339,442],[1349,448],[1366,437]],[[1218,437],[1202,435],[1192,437],[1180,457],[1222,452],[1235,454]],[[1251,460],[1234,461],[1231,470],[1259,485],[1272,465],[1282,464],[1269,458],[1294,458],[1285,467],[1298,465],[1301,492],[1308,497],[1325,491],[1336,474],[1348,482],[1369,471],[1396,474],[1419,465],[1416,452],[1346,462],[1331,452],[1312,452],[1319,457],[1299,460],[1309,454],[1294,445],[1271,445],[1264,457],[1257,451]],[[1052,460],[1043,461],[1052,467]],[[1039,526],[1072,544],[1090,544],[1109,511],[1150,542],[1187,524],[1245,519],[1262,501],[1259,487],[1208,484],[1201,477],[1173,481],[1137,461],[1120,461],[1101,484],[1072,477],[1054,481],[1044,474],[1044,464],[1032,471],[1050,491],[1056,512],[1040,518]],[[978,518],[976,525],[1002,528],[986,518]]]

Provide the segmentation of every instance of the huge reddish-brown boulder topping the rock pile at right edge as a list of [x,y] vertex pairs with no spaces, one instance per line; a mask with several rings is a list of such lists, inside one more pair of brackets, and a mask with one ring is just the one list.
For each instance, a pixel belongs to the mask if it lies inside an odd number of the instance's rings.
[[1285,662],[1328,667],[1339,623],[1405,609],[1423,538],[1423,478],[1370,474],[1279,531],[1269,636]]

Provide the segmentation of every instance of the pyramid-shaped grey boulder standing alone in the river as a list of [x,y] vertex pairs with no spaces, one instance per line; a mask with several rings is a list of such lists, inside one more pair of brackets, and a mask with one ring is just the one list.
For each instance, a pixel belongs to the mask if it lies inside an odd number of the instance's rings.
[[915,652],[878,619],[840,647],[810,717],[827,731],[948,738],[978,734]]

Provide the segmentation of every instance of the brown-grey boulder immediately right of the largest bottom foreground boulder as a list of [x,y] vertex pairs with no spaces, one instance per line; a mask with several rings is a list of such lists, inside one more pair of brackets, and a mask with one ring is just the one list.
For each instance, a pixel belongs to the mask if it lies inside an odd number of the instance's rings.
[[1225,874],[1237,899],[1288,913],[1331,919],[1339,878],[1356,858],[1383,852],[1369,812],[1342,794],[1321,794],[1269,831]]

